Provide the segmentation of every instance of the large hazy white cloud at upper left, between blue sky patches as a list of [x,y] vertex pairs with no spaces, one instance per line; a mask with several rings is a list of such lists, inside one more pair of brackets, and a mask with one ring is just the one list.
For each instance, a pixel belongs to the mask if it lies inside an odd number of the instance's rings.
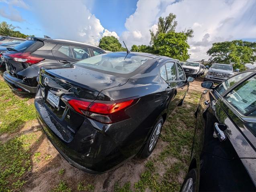
[[31,3],[35,8],[35,16],[47,32],[45,35],[52,38],[97,45],[102,36],[118,37],[116,32],[111,32],[100,24],[100,20],[88,9],[87,2],[82,0],[61,1],[61,4],[59,1]]

